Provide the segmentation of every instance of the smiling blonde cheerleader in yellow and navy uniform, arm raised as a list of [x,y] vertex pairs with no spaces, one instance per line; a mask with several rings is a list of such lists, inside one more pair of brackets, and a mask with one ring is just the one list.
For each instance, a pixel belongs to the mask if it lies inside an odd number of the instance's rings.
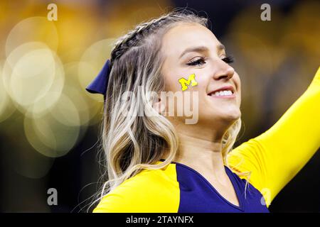
[[[117,40],[87,87],[105,97],[105,182],[94,212],[269,212],[320,146],[320,70],[272,128],[233,148],[241,84],[230,62],[208,19],[187,10],[141,23]],[[181,84],[191,74],[193,84]],[[183,102],[166,116],[166,98],[150,104],[149,91],[182,92]],[[126,92],[135,98],[124,101]],[[190,101],[186,92],[198,94],[196,123],[176,115]],[[154,115],[137,116],[140,109]]]

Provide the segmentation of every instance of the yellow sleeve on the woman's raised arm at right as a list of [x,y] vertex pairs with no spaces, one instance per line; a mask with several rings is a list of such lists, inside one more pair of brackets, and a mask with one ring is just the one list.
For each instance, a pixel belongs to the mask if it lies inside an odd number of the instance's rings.
[[236,171],[251,172],[248,181],[269,206],[319,147],[320,67],[306,92],[272,128],[228,154],[228,165]]

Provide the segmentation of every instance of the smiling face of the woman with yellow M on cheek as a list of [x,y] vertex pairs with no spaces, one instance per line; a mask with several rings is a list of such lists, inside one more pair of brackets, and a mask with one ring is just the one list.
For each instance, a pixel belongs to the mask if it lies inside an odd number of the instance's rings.
[[[190,84],[184,92],[198,92],[198,123],[230,126],[240,118],[239,75],[228,64],[223,45],[208,28],[198,23],[174,26],[164,35],[161,52],[167,92],[181,92],[178,79],[196,75],[198,84]],[[222,92],[227,95],[217,96],[214,91],[223,87],[232,94]]]

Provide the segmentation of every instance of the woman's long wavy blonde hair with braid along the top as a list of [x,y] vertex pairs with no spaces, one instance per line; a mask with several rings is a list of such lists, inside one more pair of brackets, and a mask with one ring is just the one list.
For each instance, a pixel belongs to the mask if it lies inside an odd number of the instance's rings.
[[[171,122],[150,105],[148,91],[164,91],[161,66],[161,38],[178,23],[199,23],[208,28],[208,18],[189,9],[175,9],[170,13],[140,23],[120,37],[111,52],[111,71],[102,119],[102,187],[96,203],[126,179],[144,169],[156,170],[168,165],[178,150],[178,136]],[[124,92],[132,92],[135,99],[122,100]],[[138,116],[141,109],[156,115]],[[127,115],[122,114],[126,110]],[[222,154],[232,150],[240,131],[241,120],[233,123],[223,135]],[[166,160],[156,162],[166,155]]]

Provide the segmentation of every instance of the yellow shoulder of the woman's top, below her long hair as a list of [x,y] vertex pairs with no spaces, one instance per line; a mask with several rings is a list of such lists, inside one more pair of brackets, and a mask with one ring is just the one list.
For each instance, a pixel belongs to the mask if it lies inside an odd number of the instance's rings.
[[177,212],[179,187],[175,166],[142,170],[105,195],[93,212]]

